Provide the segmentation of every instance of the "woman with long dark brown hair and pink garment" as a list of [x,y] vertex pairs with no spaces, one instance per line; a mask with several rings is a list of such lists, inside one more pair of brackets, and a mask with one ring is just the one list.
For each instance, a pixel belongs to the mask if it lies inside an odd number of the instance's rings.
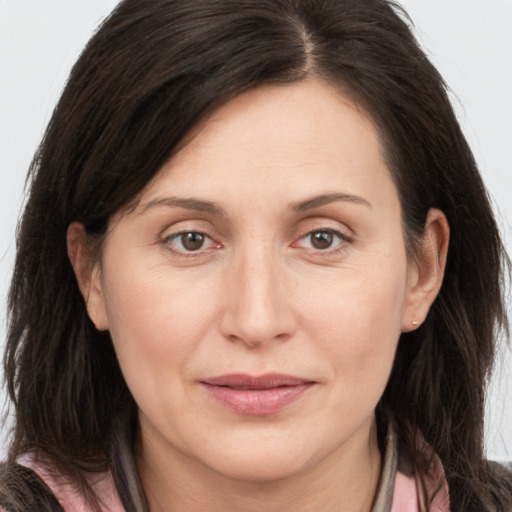
[[20,224],[6,510],[510,509],[482,448],[507,259],[401,16],[102,25]]

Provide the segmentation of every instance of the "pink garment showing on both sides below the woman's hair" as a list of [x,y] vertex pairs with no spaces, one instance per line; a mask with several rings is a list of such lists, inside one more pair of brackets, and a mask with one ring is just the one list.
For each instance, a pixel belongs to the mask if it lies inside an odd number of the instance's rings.
[[[25,456],[18,462],[35,471],[45,481],[46,485],[48,485],[55,497],[59,500],[65,512],[93,512],[92,508],[85,502],[79,491],[63,477],[51,473],[47,468],[38,464],[33,457]],[[435,468],[435,473],[437,473],[437,475],[443,473],[439,461]],[[101,510],[103,512],[125,512],[110,473],[95,476],[94,479],[91,480],[91,484],[94,492],[102,503]],[[426,485],[429,487],[429,481],[426,482]],[[427,508],[422,503],[415,477],[406,476],[403,473],[397,472],[393,490],[393,505],[390,512],[423,512],[424,510],[427,510]],[[428,511],[450,511],[446,482],[436,494]]]

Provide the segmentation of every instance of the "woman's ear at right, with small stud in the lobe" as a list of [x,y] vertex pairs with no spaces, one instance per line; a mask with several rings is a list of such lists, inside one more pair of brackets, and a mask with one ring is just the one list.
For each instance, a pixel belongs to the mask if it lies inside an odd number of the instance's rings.
[[444,213],[431,208],[425,221],[424,236],[409,264],[409,282],[402,311],[402,332],[421,325],[443,283],[450,240],[450,227]]

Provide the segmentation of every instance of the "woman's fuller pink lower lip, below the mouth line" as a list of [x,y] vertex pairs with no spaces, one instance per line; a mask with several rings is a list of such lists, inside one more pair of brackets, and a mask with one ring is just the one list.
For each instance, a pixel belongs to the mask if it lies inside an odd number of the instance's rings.
[[313,383],[304,383],[268,389],[237,389],[202,384],[218,403],[246,416],[265,416],[279,412],[313,386]]

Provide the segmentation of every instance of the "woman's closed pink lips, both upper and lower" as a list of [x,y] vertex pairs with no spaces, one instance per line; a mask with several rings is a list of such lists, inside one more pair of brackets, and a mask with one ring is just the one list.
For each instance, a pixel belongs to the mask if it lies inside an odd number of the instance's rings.
[[204,379],[201,384],[220,405],[248,416],[275,414],[311,388],[315,382],[278,373],[261,376],[230,374]]

